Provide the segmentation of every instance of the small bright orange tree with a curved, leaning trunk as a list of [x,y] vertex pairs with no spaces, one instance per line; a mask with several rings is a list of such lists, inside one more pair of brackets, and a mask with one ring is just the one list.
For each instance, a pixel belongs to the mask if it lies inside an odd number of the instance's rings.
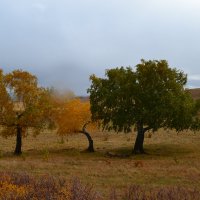
[[91,129],[96,127],[94,123],[91,123],[89,101],[82,102],[80,99],[72,99],[63,103],[55,112],[55,121],[58,125],[59,135],[83,133],[89,143],[87,151],[94,152],[92,137],[86,130],[88,124]]

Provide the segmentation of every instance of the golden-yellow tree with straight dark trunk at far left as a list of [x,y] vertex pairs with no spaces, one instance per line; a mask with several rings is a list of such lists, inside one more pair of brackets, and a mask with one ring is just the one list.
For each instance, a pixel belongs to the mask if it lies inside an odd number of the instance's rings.
[[29,128],[38,134],[50,123],[51,104],[48,89],[38,86],[37,77],[29,72],[14,70],[1,75],[5,93],[0,124],[5,137],[16,135],[15,154],[22,153],[22,137]]

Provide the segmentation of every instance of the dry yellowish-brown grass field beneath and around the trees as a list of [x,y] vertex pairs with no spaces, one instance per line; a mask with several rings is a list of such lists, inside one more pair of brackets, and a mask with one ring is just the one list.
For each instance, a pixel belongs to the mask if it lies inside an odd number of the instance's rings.
[[78,177],[102,194],[131,184],[200,190],[199,132],[177,134],[160,130],[145,138],[148,153],[145,155],[131,155],[135,133],[93,133],[92,136],[94,153],[84,152],[87,140],[81,134],[63,138],[53,132],[41,133],[36,138],[30,135],[23,139],[23,154],[19,157],[12,153],[15,138],[1,138],[0,172]]

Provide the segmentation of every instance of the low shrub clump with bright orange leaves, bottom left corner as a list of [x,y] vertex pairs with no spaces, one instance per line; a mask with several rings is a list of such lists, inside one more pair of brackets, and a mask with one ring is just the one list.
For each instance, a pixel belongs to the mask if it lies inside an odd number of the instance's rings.
[[0,199],[2,200],[99,200],[92,186],[81,184],[74,178],[64,179],[42,176],[34,179],[27,174],[0,173]]

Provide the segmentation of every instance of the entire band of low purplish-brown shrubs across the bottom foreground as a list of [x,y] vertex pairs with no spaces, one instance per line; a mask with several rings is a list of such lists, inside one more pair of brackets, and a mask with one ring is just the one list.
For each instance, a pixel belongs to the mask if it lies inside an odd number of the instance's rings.
[[[132,185],[124,190],[113,189],[110,200],[199,200],[200,191],[182,187],[145,188]],[[1,200],[102,200],[91,185],[84,185],[78,178],[66,181],[27,174],[0,173]]]

